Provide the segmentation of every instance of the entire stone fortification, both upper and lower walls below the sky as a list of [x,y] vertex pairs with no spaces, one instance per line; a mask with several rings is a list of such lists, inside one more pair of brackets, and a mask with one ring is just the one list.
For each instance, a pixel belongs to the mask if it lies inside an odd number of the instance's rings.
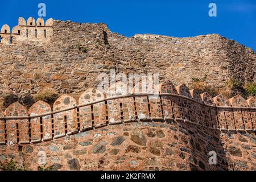
[[[1,161],[34,170],[256,169],[255,97],[212,98],[187,87],[204,75],[216,89],[230,78],[255,81],[250,48],[220,35],[127,38],[103,23],[40,18],[1,29],[0,98],[11,98],[0,108]],[[113,92],[116,85],[94,89],[111,69],[159,73],[159,97],[137,93],[141,84],[129,95]],[[48,88],[61,94],[53,106],[35,103]]]

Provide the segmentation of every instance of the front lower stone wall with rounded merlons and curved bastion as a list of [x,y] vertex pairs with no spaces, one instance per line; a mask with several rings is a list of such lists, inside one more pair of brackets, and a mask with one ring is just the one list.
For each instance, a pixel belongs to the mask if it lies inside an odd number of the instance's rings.
[[105,95],[91,88],[78,101],[64,94],[53,107],[10,105],[0,117],[0,160],[34,170],[45,159],[56,170],[255,170],[255,97],[212,98],[170,81],[159,97],[140,83],[126,96],[117,91],[124,86]]

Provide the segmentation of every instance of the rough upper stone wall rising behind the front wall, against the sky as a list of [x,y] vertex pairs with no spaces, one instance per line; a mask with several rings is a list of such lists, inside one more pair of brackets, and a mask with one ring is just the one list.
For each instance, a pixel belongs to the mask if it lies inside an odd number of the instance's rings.
[[167,78],[188,86],[192,77],[208,75],[207,84],[216,89],[230,78],[242,82],[256,78],[253,50],[220,35],[127,38],[103,23],[20,18],[12,32],[3,26],[1,37],[0,97],[23,98],[52,88],[78,99],[84,90],[98,85],[100,73],[110,74],[110,69],[125,74],[159,73],[161,81]]

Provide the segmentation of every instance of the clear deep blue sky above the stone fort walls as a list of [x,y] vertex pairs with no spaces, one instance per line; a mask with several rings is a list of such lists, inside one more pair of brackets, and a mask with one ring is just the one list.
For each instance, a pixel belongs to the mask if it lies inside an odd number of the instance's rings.
[[[47,7],[44,19],[104,22],[113,32],[126,36],[221,34],[256,50],[256,0],[1,0],[0,26],[15,26],[19,16],[38,18],[40,2]],[[217,17],[208,15],[211,2],[217,4]]]

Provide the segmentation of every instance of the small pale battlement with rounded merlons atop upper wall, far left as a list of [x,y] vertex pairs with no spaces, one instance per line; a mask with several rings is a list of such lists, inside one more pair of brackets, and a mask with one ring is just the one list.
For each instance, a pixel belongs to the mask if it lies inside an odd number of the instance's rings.
[[53,19],[50,18],[44,23],[43,18],[36,21],[30,17],[27,21],[19,17],[18,26],[10,27],[5,24],[0,32],[0,44],[15,44],[19,42],[48,42],[53,34]]

